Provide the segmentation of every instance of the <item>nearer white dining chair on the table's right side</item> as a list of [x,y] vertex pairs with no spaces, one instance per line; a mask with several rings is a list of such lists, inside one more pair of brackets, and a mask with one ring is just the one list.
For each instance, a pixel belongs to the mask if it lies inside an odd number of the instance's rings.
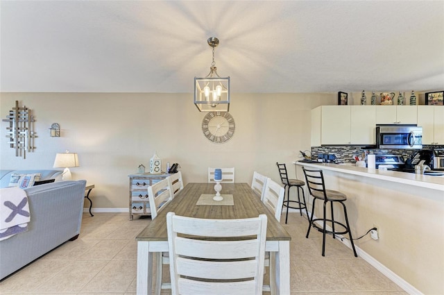
[[[285,189],[271,178],[266,180],[264,188],[264,197],[262,203],[275,214],[275,219],[280,222],[280,215],[282,214],[282,204],[284,203]],[[266,252],[264,266],[270,267],[270,285],[264,285],[262,288],[264,291],[270,291],[271,294],[275,294],[276,280],[275,280],[275,252]]]

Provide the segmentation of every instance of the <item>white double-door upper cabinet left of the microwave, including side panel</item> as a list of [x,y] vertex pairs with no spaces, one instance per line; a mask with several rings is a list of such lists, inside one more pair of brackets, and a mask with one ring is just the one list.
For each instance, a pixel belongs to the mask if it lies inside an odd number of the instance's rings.
[[311,110],[311,146],[375,144],[375,106],[320,106]]

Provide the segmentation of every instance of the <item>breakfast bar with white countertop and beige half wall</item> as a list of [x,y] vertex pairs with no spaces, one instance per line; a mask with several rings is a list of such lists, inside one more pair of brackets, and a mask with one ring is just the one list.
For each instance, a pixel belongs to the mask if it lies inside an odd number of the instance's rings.
[[[299,179],[304,180],[302,166],[322,169],[326,188],[348,196],[345,204],[354,238],[377,228],[379,239],[366,235],[355,241],[361,258],[409,294],[444,294],[443,176],[293,163]],[[310,197],[310,209],[311,202]],[[336,209],[335,219],[342,219],[341,210]],[[320,216],[321,212],[314,214]]]

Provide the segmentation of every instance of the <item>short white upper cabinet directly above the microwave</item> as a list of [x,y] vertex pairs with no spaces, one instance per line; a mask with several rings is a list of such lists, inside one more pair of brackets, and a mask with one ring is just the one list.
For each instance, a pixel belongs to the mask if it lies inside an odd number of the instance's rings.
[[417,106],[376,106],[376,124],[417,124]]

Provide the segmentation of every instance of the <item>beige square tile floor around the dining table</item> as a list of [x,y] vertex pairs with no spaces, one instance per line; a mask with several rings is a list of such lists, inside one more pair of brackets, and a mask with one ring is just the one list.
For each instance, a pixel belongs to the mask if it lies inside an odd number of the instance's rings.
[[[0,294],[136,294],[135,237],[150,221],[129,221],[122,213],[85,213],[78,239],[0,281]],[[292,237],[291,294],[407,294],[331,237],[322,257],[322,235],[312,231],[306,239],[307,219],[299,214],[289,214],[284,226]],[[164,273],[169,277],[167,267]]]

